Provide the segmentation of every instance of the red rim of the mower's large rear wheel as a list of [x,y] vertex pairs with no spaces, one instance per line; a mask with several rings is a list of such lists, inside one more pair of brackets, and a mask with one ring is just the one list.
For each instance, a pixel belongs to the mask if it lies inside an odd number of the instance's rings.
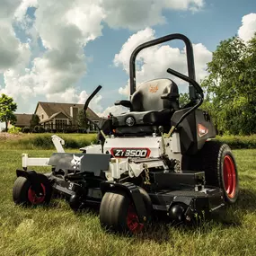
[[228,154],[224,157],[223,176],[225,192],[230,199],[234,198],[236,188],[236,173],[232,157]]

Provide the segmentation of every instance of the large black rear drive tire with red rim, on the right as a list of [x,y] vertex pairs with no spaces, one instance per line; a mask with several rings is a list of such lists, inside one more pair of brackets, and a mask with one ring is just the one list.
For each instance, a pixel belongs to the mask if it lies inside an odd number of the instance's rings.
[[184,157],[182,162],[182,169],[205,172],[206,184],[224,190],[227,204],[236,202],[239,196],[238,172],[234,154],[225,143],[207,141],[198,154]]

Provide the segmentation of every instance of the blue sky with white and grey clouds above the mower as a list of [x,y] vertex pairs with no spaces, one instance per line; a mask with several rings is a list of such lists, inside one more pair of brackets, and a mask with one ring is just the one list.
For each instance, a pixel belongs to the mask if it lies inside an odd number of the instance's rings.
[[[128,99],[137,45],[186,35],[200,83],[221,40],[248,41],[255,31],[255,0],[0,0],[0,94],[13,97],[16,113],[33,113],[37,102],[84,103],[101,84],[89,107],[118,114],[114,102]],[[137,59],[137,85],[170,77],[168,67],[187,72],[181,42],[145,49]]]

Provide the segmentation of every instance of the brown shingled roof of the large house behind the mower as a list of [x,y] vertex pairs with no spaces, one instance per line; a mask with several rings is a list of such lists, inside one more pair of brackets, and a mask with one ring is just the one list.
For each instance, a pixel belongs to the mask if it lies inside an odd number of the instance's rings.
[[[70,107],[76,107],[78,110],[84,109],[84,104],[75,104],[75,103],[59,103],[59,102],[38,102],[38,106],[41,106],[43,110],[47,113],[49,117],[52,115],[62,112],[65,114],[68,118],[70,117]],[[89,109],[86,111],[88,114],[89,119],[101,119],[96,113],[93,112],[93,110]]]

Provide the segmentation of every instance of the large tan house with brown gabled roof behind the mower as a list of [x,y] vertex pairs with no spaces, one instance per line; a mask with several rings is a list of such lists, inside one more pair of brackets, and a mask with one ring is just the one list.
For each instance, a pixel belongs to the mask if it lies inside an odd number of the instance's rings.
[[[58,102],[38,102],[34,114],[40,118],[40,124],[45,129],[76,129],[77,118],[80,110],[84,109],[84,104],[58,103]],[[87,117],[96,124],[99,124],[101,118],[89,109],[86,111]],[[89,123],[88,123],[89,124]],[[95,131],[94,125],[90,125],[89,131]]]

